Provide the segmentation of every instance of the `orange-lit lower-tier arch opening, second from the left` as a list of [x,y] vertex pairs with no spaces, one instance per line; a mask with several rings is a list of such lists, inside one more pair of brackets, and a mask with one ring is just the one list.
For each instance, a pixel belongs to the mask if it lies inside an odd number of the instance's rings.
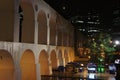
[[36,80],[36,66],[34,53],[31,50],[26,50],[20,61],[22,72],[22,80]]

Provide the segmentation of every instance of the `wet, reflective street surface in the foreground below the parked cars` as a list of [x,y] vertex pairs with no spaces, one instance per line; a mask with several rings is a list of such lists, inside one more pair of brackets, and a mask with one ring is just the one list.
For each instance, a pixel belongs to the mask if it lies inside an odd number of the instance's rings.
[[42,76],[41,80],[116,80],[115,75],[105,73],[88,73],[87,69],[83,72],[70,73],[58,72],[49,76]]

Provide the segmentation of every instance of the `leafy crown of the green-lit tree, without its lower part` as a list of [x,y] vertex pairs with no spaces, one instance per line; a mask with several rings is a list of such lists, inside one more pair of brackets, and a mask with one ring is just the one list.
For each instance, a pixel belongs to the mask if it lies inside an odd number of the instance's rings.
[[100,53],[102,51],[105,53],[114,52],[115,48],[111,40],[110,34],[100,33],[91,40],[90,49],[93,53]]

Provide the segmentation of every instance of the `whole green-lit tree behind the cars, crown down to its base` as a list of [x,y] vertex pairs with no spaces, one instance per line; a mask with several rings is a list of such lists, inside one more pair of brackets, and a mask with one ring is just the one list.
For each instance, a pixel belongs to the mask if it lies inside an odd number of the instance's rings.
[[98,63],[104,63],[105,61],[109,61],[112,58],[115,48],[113,47],[111,39],[112,38],[108,33],[99,33],[97,36],[91,39],[91,55],[93,56],[94,54],[95,56],[93,57],[94,59],[91,58],[91,61],[95,60],[96,58]]

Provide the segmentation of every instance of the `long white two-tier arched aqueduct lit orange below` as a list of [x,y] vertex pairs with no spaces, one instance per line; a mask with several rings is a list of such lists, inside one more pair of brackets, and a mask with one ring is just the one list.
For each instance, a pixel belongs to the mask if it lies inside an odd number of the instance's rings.
[[73,26],[43,0],[0,2],[0,80],[41,80],[73,60]]

